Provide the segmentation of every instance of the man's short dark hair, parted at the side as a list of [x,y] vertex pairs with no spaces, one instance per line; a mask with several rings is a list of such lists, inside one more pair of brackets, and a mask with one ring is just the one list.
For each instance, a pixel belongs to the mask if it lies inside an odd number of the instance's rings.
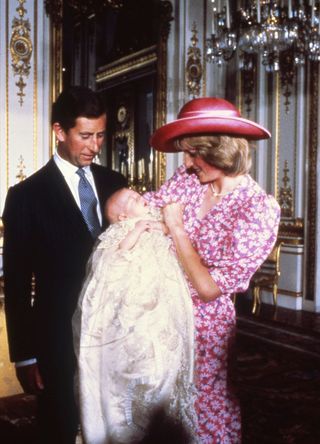
[[59,123],[67,132],[78,117],[98,118],[106,106],[100,93],[85,86],[72,86],[59,95],[52,105],[51,123]]

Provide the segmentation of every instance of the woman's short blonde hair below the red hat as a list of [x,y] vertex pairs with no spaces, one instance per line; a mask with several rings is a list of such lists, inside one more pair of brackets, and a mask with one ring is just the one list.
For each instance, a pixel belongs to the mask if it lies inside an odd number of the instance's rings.
[[179,150],[194,150],[209,165],[222,170],[227,176],[237,176],[249,172],[252,164],[250,146],[247,139],[229,136],[183,137],[177,141]]

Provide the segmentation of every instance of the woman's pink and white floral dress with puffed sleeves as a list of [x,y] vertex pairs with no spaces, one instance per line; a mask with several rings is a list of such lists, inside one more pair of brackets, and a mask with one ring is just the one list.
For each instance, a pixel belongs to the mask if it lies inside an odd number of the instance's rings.
[[189,282],[196,328],[196,410],[199,442],[241,442],[240,408],[228,380],[228,352],[235,336],[235,309],[230,295],[248,288],[252,274],[276,241],[280,209],[249,176],[202,219],[197,217],[208,185],[184,166],[157,192],[145,198],[157,207],[181,202],[184,225],[222,294],[203,302]]

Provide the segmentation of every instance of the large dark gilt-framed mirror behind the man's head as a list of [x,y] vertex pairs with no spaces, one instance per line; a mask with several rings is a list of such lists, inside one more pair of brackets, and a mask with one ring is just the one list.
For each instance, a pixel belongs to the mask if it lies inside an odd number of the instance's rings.
[[101,91],[108,123],[98,161],[121,171],[139,191],[155,189],[165,179],[165,157],[149,138],[166,119],[171,3],[49,0],[46,8],[52,19],[52,99],[69,85]]

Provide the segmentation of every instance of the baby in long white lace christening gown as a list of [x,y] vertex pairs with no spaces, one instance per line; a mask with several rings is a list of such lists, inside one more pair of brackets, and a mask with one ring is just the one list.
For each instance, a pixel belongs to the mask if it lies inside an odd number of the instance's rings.
[[73,318],[85,442],[139,442],[159,409],[192,432],[192,302],[161,212],[127,188],[105,211]]

